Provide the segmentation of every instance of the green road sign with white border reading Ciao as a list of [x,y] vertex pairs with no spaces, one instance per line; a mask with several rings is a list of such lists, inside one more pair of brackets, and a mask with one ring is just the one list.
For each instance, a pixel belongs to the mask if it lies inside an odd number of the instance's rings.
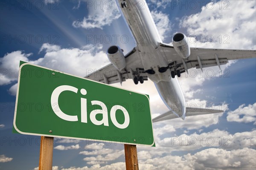
[[18,133],[124,144],[154,144],[145,94],[20,65],[14,127]]

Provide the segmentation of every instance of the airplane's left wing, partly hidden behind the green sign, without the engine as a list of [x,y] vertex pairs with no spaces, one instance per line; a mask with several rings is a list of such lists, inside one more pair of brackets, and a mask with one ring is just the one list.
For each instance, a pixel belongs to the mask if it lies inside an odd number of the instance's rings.
[[105,84],[113,84],[125,82],[126,79],[133,79],[135,74],[140,74],[144,80],[148,80],[143,69],[143,64],[140,59],[140,54],[136,48],[125,55],[126,67],[122,71],[119,71],[112,64],[87,75],[84,78],[92,79],[97,82],[103,82]]

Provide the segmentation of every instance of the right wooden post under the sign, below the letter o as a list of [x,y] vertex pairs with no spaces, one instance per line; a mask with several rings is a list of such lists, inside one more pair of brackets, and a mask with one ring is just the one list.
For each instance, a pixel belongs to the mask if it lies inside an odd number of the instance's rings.
[[136,145],[125,144],[126,170],[139,170]]

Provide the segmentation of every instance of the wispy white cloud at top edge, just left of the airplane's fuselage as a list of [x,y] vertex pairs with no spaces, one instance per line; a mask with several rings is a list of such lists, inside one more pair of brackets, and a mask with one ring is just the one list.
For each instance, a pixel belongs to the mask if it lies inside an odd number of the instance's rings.
[[[98,4],[97,1],[91,1],[94,4]],[[110,26],[113,20],[117,20],[121,17],[119,9],[116,6],[115,1],[100,1],[100,7],[91,6],[89,8],[88,17],[84,17],[82,21],[74,21],[73,26],[75,28],[100,28],[103,29],[104,26]]]

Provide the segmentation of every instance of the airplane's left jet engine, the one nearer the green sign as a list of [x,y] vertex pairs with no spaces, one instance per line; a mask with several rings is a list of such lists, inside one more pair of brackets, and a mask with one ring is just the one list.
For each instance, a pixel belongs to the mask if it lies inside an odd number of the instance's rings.
[[122,70],[126,66],[125,56],[123,51],[118,46],[111,46],[108,48],[108,59],[115,66],[115,68]]

